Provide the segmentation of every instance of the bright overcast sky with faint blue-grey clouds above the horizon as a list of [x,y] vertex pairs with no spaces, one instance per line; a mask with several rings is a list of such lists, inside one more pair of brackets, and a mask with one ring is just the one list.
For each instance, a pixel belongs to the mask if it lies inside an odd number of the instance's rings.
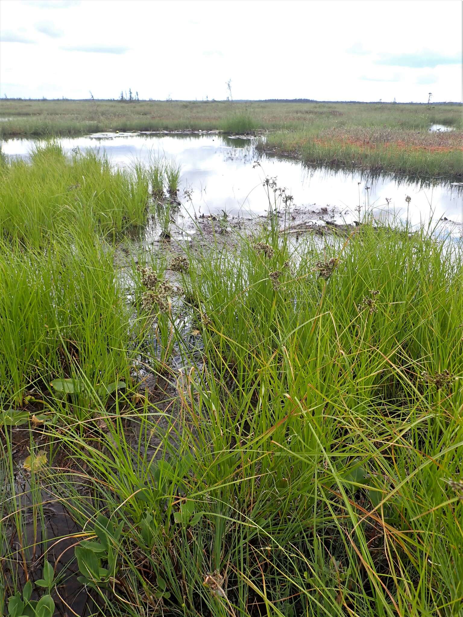
[[462,99],[459,0],[1,0],[9,97]]

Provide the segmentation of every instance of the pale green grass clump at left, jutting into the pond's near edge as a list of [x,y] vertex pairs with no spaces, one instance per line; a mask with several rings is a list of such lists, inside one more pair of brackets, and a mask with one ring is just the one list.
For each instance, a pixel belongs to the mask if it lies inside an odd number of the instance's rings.
[[0,167],[0,229],[4,239],[40,245],[58,228],[118,233],[141,225],[148,208],[149,169],[112,170],[91,151],[65,157],[60,145],[38,144],[30,162]]

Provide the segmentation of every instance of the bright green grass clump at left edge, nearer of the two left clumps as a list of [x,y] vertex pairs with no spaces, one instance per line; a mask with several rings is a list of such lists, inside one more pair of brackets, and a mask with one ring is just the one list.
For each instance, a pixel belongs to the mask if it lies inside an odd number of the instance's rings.
[[66,230],[38,249],[2,242],[0,272],[3,408],[21,407],[28,391],[48,394],[55,378],[84,379],[93,389],[128,378],[135,328],[111,247]]

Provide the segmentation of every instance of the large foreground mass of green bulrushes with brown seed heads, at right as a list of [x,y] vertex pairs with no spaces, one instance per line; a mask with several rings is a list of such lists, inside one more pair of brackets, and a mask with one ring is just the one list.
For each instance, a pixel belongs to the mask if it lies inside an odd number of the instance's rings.
[[[99,560],[102,607],[458,615],[463,255],[403,231],[365,223],[348,242],[307,236],[265,257],[264,229],[187,253],[201,355],[179,344],[185,368],[165,367],[173,389],[162,402],[119,399],[136,439],[119,421],[99,449],[60,429],[75,468],[55,474],[55,492],[99,538],[80,540],[80,568]],[[320,282],[314,264],[332,259]],[[447,383],[443,365],[451,390],[422,384],[423,368]],[[84,469],[93,500],[75,482]]]

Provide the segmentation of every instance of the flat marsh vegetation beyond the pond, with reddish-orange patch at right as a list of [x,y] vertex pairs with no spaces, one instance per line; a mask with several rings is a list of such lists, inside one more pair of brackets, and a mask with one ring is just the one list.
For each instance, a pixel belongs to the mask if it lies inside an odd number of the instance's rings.
[[[219,130],[261,134],[257,148],[306,164],[427,178],[463,176],[463,107],[322,102],[0,100],[0,136]],[[429,132],[432,125],[453,128]]]

